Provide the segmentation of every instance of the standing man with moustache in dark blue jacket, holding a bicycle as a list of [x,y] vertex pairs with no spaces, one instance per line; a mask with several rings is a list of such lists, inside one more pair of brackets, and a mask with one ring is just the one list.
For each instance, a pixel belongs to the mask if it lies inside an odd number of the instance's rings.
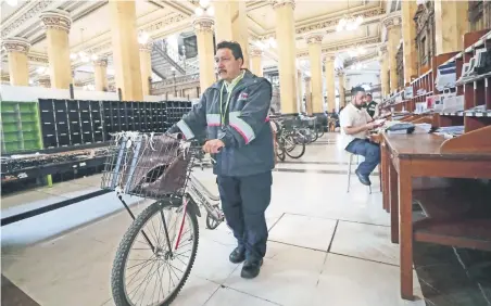
[[273,133],[268,123],[272,85],[241,69],[240,44],[218,43],[215,62],[221,80],[207,88],[176,127],[186,139],[206,129],[206,153],[216,154],[222,207],[238,246],[229,259],[243,260],[241,277],[255,278],[266,254],[265,211],[269,205],[274,168]]

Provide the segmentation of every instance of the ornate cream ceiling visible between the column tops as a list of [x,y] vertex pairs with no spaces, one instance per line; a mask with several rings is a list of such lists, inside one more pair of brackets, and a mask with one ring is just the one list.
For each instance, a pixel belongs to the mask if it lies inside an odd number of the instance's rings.
[[[399,1],[362,0],[326,1],[297,0],[294,9],[295,43],[299,60],[307,59],[305,36],[324,33],[324,52],[336,52],[343,61],[351,59],[347,52],[355,47],[364,47],[366,53],[375,54],[376,47],[383,37],[380,21],[388,12],[396,10]],[[199,5],[196,0],[137,0],[137,26],[153,39],[172,34],[192,31],[193,11]],[[47,65],[47,42],[39,15],[43,11],[61,9],[70,12],[73,24],[70,33],[72,52],[89,51],[100,56],[110,56],[111,23],[108,0],[61,1],[61,0],[17,0],[11,7],[1,2],[1,38],[23,37],[33,47],[29,51],[29,68],[36,77],[37,67]],[[275,37],[275,11],[269,1],[248,1],[248,25],[250,43]],[[344,15],[363,15],[364,23],[355,30],[336,31],[336,25]],[[84,30],[81,30],[84,29]],[[265,52],[264,65],[276,65],[277,50]],[[2,75],[8,73],[7,54],[2,51]],[[75,78],[91,77],[90,64],[74,61]],[[111,71],[111,66],[109,67]]]

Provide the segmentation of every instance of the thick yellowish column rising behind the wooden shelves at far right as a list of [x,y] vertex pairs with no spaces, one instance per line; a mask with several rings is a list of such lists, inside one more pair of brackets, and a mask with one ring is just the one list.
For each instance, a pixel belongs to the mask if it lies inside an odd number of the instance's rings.
[[437,55],[462,51],[468,26],[468,1],[435,0],[435,44]]

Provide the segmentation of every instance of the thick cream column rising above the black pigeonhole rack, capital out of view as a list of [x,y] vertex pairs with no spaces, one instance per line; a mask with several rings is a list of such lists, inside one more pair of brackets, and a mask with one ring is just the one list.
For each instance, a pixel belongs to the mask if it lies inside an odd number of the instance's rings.
[[110,0],[113,64],[123,100],[143,101],[135,0]]

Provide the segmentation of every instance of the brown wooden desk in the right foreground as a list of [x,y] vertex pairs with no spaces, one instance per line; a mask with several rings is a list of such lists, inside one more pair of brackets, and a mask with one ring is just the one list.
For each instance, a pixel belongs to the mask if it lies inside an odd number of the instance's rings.
[[[483,132],[480,136],[489,144],[491,130],[487,128]],[[383,135],[383,207],[390,209],[391,241],[400,243],[401,296],[404,299],[413,299],[413,239],[491,251],[491,219],[452,226],[430,220],[413,226],[413,178],[491,178],[491,152],[475,150],[473,153],[462,146],[461,152],[456,152],[458,145],[454,144],[463,144],[462,139],[444,143],[442,137],[429,133]]]

